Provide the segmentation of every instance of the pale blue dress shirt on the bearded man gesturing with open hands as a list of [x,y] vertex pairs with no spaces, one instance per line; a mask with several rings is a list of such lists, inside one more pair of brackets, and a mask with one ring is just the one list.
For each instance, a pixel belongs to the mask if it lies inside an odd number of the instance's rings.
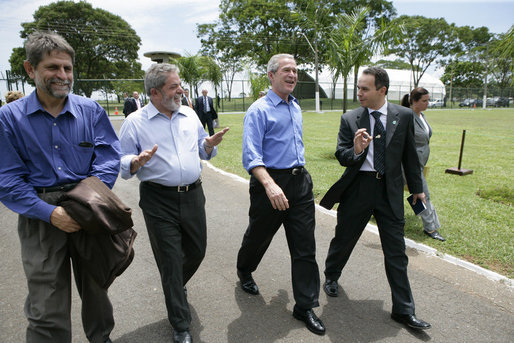
[[181,106],[170,119],[150,101],[128,116],[121,127],[121,177],[132,177],[132,159],[157,144],[153,157],[136,172],[139,180],[165,186],[191,184],[200,177],[200,159],[209,160],[217,153],[217,147],[210,155],[205,152],[206,137],[196,112],[188,106]]

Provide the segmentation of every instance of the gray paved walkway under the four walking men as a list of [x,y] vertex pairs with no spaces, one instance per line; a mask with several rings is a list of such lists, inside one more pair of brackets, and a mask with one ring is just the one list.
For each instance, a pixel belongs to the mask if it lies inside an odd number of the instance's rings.
[[[512,342],[513,291],[439,257],[408,249],[409,276],[417,315],[432,323],[425,332],[407,330],[389,318],[391,296],[377,235],[365,231],[340,280],[339,298],[320,294],[316,312],[327,327],[323,337],[310,333],[291,316],[294,305],[290,262],[283,230],[254,273],[261,295],[239,288],[235,259],[248,217],[248,185],[212,168],[203,172],[207,197],[208,249],[188,284],[195,342]],[[110,288],[115,343],[170,342],[160,279],[138,207],[138,181],[118,180],[115,192],[132,207],[138,237],[136,256]],[[316,212],[320,270],[335,218]],[[23,342],[26,296],[16,215],[0,205],[0,342]],[[322,277],[323,280],[323,277]],[[80,300],[74,294],[74,342],[85,342]]]

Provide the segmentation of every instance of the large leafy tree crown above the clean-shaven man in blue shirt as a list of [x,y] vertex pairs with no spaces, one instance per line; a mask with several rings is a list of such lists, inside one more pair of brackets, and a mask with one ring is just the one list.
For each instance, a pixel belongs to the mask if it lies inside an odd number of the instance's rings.
[[302,35],[317,42],[320,61],[325,63],[326,34],[336,15],[368,4],[367,20],[395,13],[390,1],[377,0],[221,0],[219,19],[198,25],[202,51],[210,56],[228,54],[248,57],[264,66],[277,53],[289,53],[296,62],[311,64],[314,53]]

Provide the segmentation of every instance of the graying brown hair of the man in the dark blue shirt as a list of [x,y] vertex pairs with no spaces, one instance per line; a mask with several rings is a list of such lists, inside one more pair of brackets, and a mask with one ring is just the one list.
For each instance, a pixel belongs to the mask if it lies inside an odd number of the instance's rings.
[[54,50],[70,55],[71,62],[75,63],[75,50],[66,39],[57,33],[35,31],[25,41],[27,61],[34,68],[37,67],[45,55],[49,55]]

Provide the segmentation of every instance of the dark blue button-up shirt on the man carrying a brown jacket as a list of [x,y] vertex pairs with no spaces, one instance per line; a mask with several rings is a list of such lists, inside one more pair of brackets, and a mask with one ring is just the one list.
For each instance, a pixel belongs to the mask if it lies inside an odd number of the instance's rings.
[[55,209],[34,187],[51,187],[96,176],[112,187],[120,144],[105,110],[69,94],[55,118],[36,91],[0,108],[0,201],[19,214],[50,222]]

